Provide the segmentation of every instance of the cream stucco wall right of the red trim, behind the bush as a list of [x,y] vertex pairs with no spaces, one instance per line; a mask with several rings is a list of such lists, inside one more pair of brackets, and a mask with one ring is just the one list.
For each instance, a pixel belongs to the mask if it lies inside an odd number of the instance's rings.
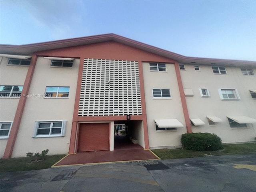
[[[193,126],[193,132],[215,133],[224,143],[253,141],[256,137],[256,124],[247,128],[230,128],[227,116],[248,116],[256,119],[256,99],[249,90],[256,90],[256,76],[244,76],[239,67],[226,67],[227,74],[214,74],[211,66],[201,65],[201,71],[194,65],[185,65],[180,70],[184,88],[191,88],[194,96],[186,96],[190,118],[200,118],[203,126]],[[256,69],[254,68],[254,74]],[[210,97],[200,95],[200,88],[208,88]],[[240,100],[221,100],[218,89],[237,89]],[[217,116],[223,122],[215,126],[208,124],[206,116]]]

